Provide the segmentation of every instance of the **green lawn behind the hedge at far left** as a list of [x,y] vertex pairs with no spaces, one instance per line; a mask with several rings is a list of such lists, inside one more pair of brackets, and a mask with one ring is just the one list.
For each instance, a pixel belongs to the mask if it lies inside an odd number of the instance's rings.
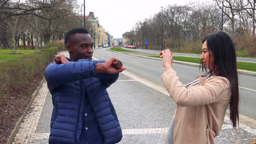
[[18,50],[18,54],[10,55],[10,49],[0,49],[0,62],[6,62],[10,59],[16,59],[20,56],[33,54],[35,50]]

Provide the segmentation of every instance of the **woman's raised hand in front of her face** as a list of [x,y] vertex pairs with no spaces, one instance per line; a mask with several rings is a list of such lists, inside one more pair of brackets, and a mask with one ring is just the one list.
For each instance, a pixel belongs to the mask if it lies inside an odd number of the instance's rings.
[[172,68],[172,61],[173,61],[173,57],[172,57],[172,52],[170,49],[165,49],[163,51],[160,52],[160,57],[163,56],[163,66],[165,71],[169,70],[169,69],[173,69]]

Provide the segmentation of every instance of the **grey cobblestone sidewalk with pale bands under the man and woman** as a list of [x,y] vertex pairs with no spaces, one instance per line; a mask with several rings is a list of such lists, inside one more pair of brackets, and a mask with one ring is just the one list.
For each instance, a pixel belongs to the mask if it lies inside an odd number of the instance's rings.
[[[171,116],[176,108],[167,91],[122,72],[108,89],[123,131],[121,144],[163,144]],[[46,82],[33,104],[12,144],[46,144],[50,132],[53,104]],[[233,129],[225,117],[217,144],[248,144],[256,138],[256,129],[240,123]]]

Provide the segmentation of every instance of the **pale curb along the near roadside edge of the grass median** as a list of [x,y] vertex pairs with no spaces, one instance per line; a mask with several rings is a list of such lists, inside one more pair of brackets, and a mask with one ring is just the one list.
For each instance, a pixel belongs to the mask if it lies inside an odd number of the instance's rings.
[[[131,56],[139,56],[139,57],[144,57],[144,58],[148,58],[148,59],[162,60],[162,59],[160,59],[160,58],[154,58],[154,57],[149,57],[149,56],[141,56],[141,55],[131,55]],[[198,63],[193,63],[193,62],[182,62],[182,61],[177,61],[177,60],[173,60],[173,62],[181,63],[181,64],[184,64],[184,65],[200,66],[200,64],[198,64]],[[237,69],[237,72],[238,72],[238,73],[242,73],[242,74],[246,74],[246,75],[256,75],[256,72],[247,71],[247,70],[242,70],[242,69]]]

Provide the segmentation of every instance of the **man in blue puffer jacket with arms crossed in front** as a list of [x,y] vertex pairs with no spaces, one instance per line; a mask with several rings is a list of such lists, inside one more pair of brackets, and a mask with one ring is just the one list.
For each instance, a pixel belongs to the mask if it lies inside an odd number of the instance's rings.
[[70,29],[65,46],[70,59],[56,56],[45,71],[53,99],[49,144],[118,143],[122,131],[106,88],[125,68],[115,58],[92,60],[87,29]]

